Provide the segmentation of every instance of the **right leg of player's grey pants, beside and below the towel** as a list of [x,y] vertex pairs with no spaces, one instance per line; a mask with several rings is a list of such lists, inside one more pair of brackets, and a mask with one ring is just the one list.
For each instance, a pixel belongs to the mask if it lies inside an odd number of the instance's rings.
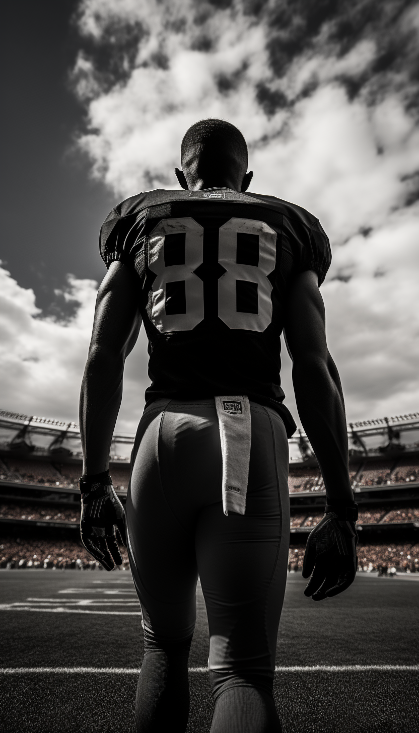
[[254,404],[251,412],[246,512],[203,509],[197,562],[210,670],[272,674],[288,563],[288,442],[277,413]]

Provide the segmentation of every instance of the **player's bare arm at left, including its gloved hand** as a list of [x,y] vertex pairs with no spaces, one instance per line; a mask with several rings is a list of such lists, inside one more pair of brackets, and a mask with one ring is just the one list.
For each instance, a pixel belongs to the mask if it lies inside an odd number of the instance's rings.
[[106,570],[122,563],[115,526],[125,541],[125,515],[109,477],[109,451],[123,394],[125,359],[141,327],[138,284],[122,262],[109,266],[96,300],[80,395],[83,448],[81,540]]

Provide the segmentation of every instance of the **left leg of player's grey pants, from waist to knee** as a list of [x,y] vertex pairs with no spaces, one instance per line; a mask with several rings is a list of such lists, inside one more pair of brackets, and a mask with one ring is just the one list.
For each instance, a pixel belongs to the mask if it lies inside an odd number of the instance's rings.
[[159,638],[194,630],[200,508],[221,500],[214,401],[166,400],[139,424],[127,497],[130,561],[145,627]]

